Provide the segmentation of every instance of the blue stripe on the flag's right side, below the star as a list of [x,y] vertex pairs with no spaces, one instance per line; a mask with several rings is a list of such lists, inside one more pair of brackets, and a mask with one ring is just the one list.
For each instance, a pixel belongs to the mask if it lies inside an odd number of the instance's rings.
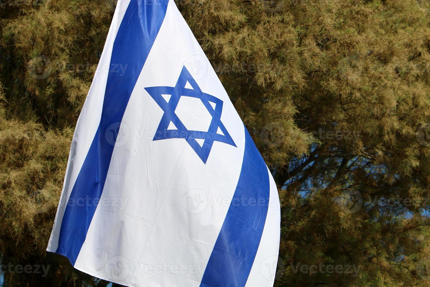
[[266,222],[269,173],[245,128],[239,182],[200,287],[245,286]]

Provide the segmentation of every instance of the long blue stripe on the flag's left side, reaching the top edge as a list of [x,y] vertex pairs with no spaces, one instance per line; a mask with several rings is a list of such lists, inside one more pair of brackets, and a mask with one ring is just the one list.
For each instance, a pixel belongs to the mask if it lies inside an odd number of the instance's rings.
[[[148,3],[147,3],[148,2]],[[105,131],[112,126],[119,128],[131,93],[157,37],[168,1],[131,0],[119,27],[107,76],[103,109],[98,130],[71,191],[69,202],[100,198],[107,170],[111,162],[118,133],[112,133],[113,141],[107,141]],[[125,68],[120,73],[117,66]],[[85,241],[89,225],[97,205],[68,204],[61,222],[58,248],[55,251],[66,256],[72,265]],[[89,204],[87,204],[89,205]]]

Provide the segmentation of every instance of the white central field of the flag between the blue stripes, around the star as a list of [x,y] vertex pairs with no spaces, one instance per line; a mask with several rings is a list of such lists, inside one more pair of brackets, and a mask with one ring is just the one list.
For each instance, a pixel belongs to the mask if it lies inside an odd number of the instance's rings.
[[[163,111],[144,88],[175,86],[184,65],[204,93],[224,101],[221,121],[237,145],[214,142],[206,164],[185,139],[152,140]],[[187,105],[184,117],[203,127],[207,115]],[[237,186],[245,133],[173,1],[121,130],[100,199],[112,204],[98,205],[75,268],[128,286],[199,286]]]

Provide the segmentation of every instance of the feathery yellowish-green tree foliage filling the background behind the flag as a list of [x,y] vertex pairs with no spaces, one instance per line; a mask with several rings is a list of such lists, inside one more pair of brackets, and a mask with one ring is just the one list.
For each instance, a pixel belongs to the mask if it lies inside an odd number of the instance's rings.
[[[0,252],[7,260],[48,260],[73,127],[114,2],[0,6]],[[283,264],[275,286],[430,285],[421,268],[430,264],[430,3],[177,4],[278,186]],[[361,208],[349,205],[351,197]],[[43,284],[105,284],[48,256],[56,275]],[[296,269],[320,263],[359,272]]]

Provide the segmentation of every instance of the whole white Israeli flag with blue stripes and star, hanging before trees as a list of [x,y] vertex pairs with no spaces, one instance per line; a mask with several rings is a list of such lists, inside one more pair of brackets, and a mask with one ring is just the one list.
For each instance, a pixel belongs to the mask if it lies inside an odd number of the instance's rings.
[[47,251],[126,286],[263,287],[279,233],[275,182],[173,0],[118,0]]

